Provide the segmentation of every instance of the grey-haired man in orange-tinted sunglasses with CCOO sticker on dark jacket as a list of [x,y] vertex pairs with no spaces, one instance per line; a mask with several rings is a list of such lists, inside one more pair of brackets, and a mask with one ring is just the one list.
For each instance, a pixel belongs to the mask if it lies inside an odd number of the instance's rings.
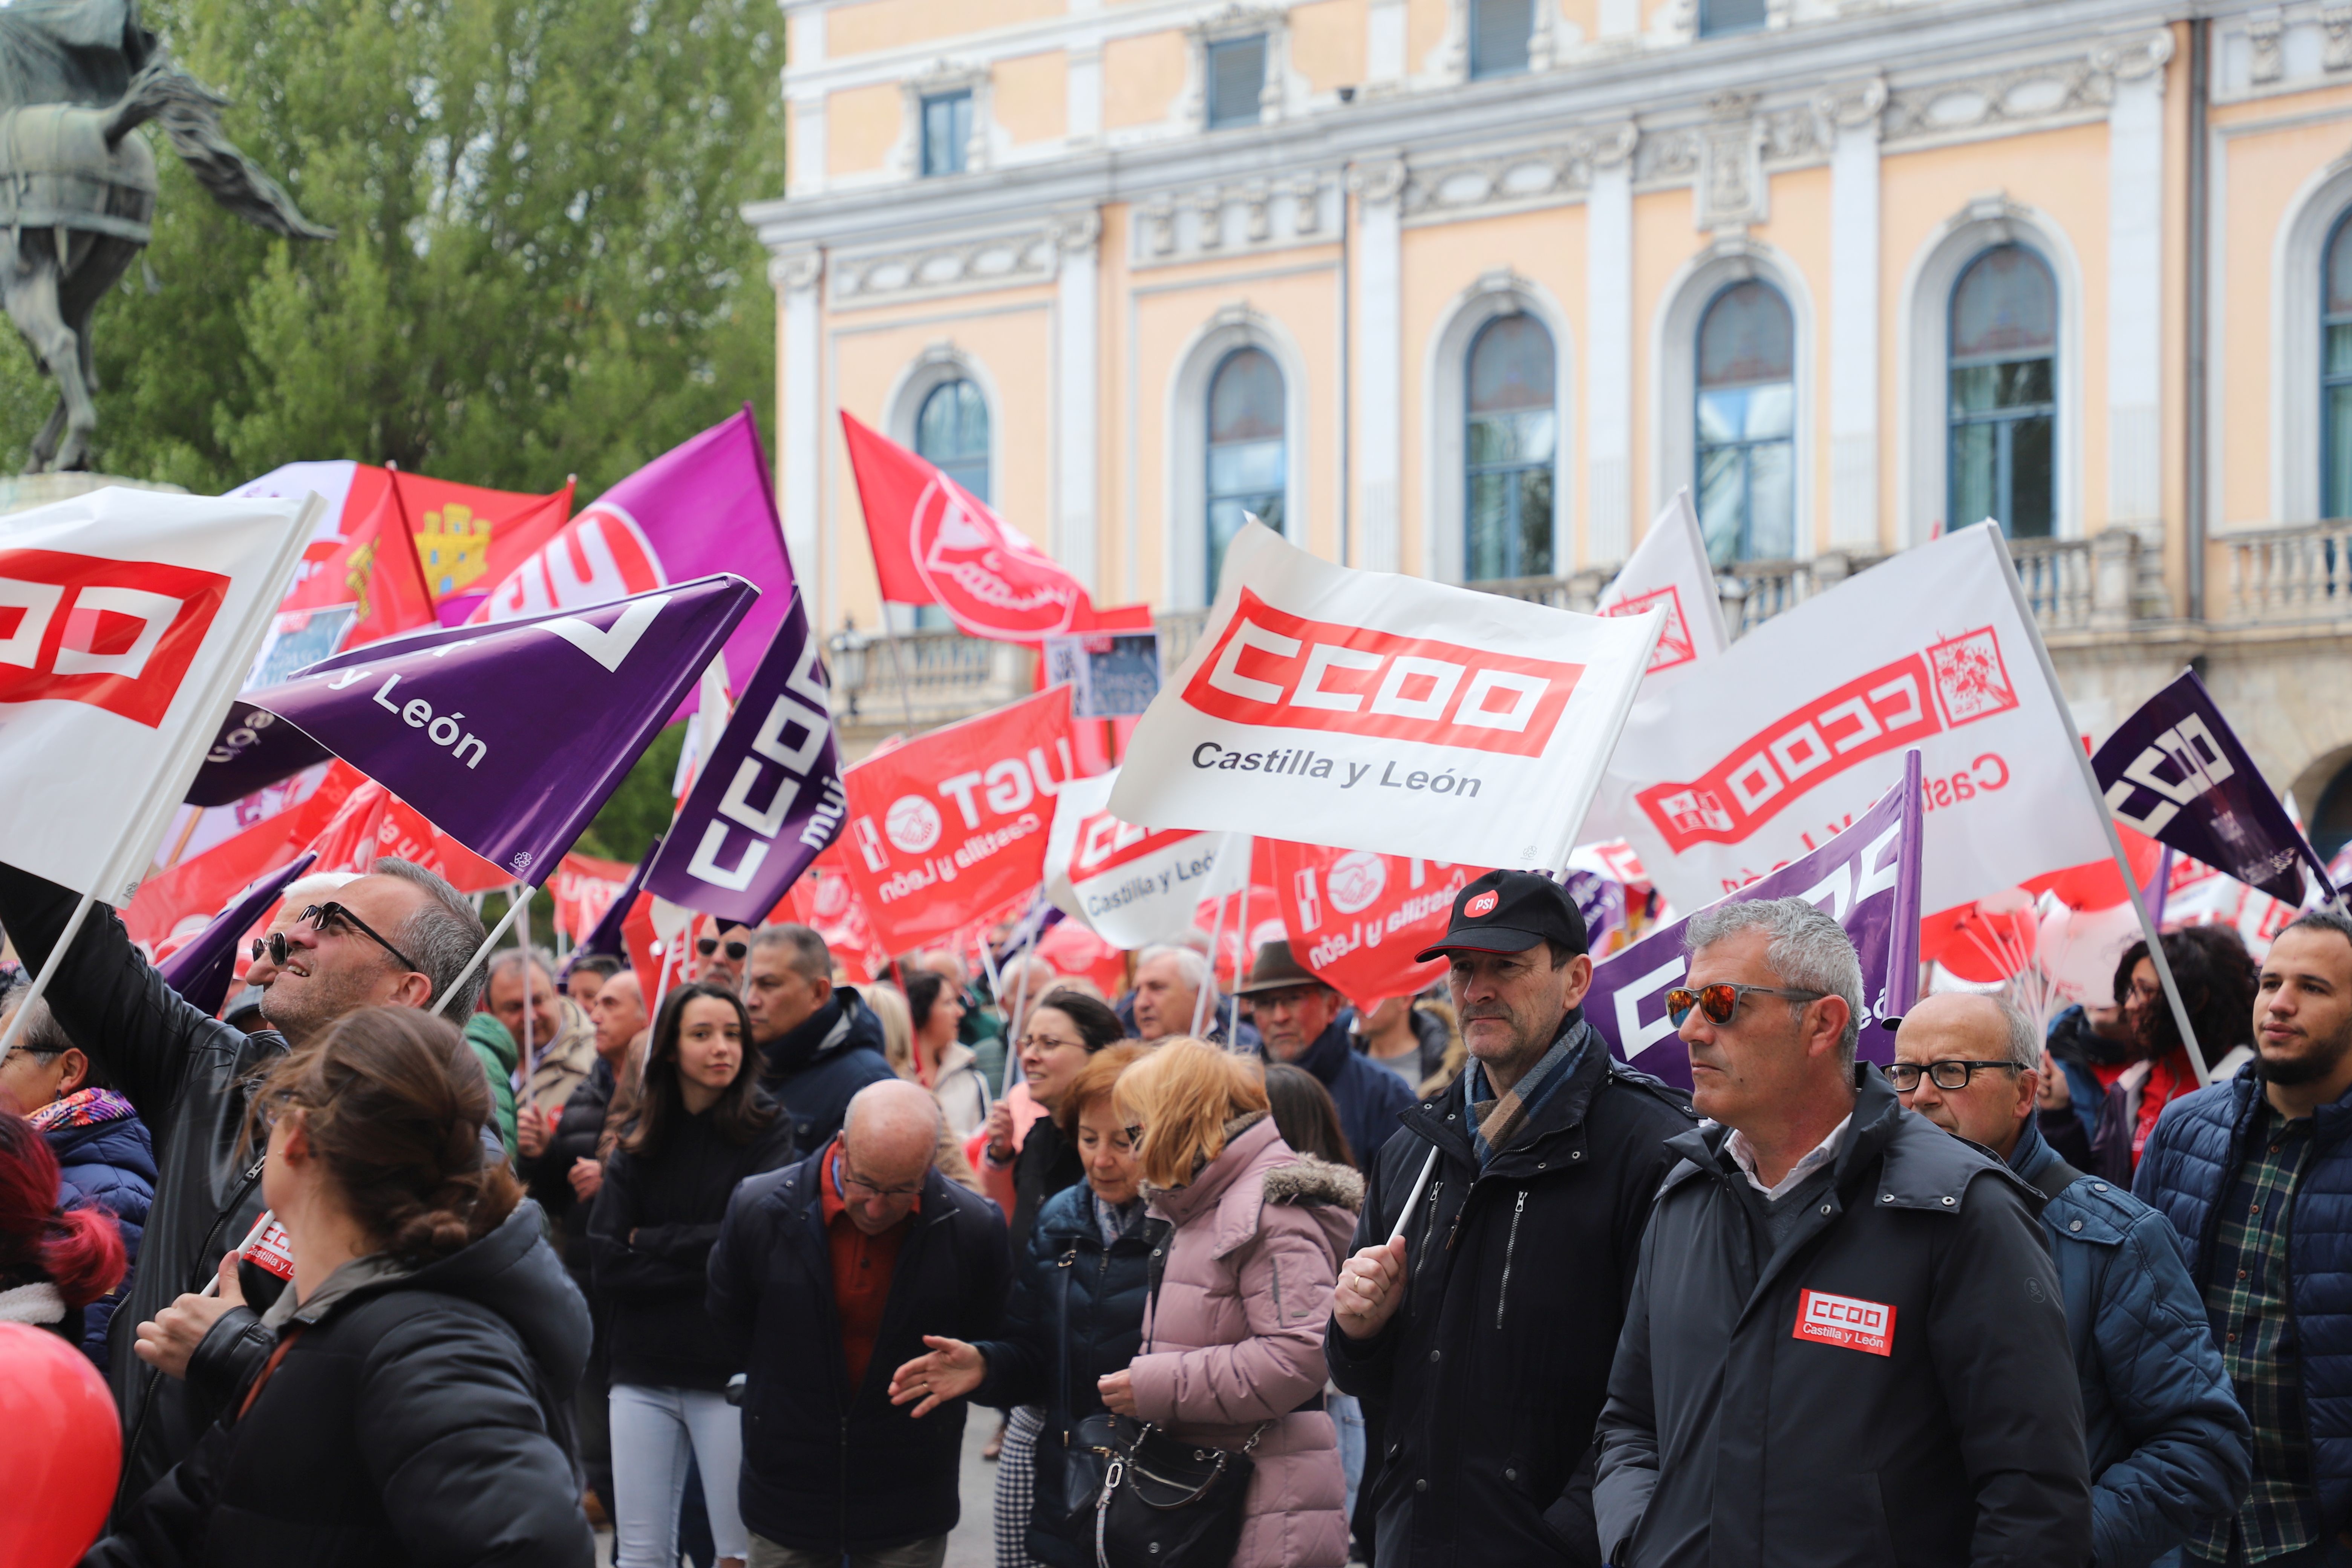
[[1609,1380],[1609,1561],[2091,1561],[2032,1190],[1853,1065],[1863,973],[1825,912],[1719,905],[1689,945],[1668,1013],[1710,1121],[1668,1145]]

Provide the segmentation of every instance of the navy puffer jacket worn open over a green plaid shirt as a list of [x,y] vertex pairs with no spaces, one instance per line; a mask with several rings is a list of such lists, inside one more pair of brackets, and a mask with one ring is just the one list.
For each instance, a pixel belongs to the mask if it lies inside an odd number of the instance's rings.
[[[2180,1095],[2164,1107],[2140,1152],[2131,1190],[2154,1206],[2187,1244],[2190,1276],[2204,1295],[2220,1201],[2237,1180],[2263,1084],[2253,1063],[2227,1084]],[[2321,1105],[2312,1152],[2286,1215],[2288,1319],[2303,1349],[2303,1410],[2312,1439],[2312,1479],[2326,1535],[2352,1523],[2352,1095]],[[2225,1333],[2213,1324],[2216,1342]]]

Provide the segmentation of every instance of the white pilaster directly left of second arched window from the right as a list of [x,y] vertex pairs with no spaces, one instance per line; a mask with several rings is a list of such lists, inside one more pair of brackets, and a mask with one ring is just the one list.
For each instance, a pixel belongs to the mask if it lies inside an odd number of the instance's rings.
[[1879,110],[1886,82],[1813,101],[1830,150],[1830,543],[1879,545]]

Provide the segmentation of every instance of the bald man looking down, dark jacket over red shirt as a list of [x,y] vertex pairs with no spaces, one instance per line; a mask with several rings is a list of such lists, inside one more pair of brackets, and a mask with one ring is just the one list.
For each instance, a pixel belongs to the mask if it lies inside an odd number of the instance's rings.
[[840,1135],[736,1187],[710,1316],[746,1356],[748,1568],[938,1568],[960,1516],[964,1401],[913,1420],[891,1371],[995,1333],[1004,1215],[931,1157],[938,1103],[889,1079]]

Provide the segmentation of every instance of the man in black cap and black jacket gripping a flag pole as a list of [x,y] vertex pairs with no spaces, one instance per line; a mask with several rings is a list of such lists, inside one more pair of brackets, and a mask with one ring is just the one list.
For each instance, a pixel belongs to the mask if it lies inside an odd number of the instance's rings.
[[1599,1563],[1592,1429],[1649,1201],[1693,1124],[1583,1018],[1576,903],[1486,872],[1442,943],[1470,1067],[1367,1161],[1324,1352],[1383,1410],[1376,1561]]

